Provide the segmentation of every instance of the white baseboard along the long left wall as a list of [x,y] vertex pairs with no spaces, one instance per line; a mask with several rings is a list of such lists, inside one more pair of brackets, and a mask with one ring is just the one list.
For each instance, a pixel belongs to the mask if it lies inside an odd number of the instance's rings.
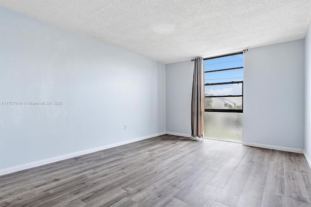
[[29,169],[29,168],[38,167],[38,166],[41,166],[41,165],[46,165],[46,164],[50,164],[50,163],[53,163],[53,162],[58,162],[58,161],[61,161],[61,160],[64,160],[64,159],[69,159],[69,158],[80,156],[80,155],[86,155],[86,154],[89,154],[89,153],[98,152],[98,151],[101,151],[101,150],[105,150],[105,149],[121,146],[121,145],[124,145],[124,144],[133,143],[133,142],[140,141],[140,140],[143,140],[143,139],[154,138],[154,137],[165,135],[165,134],[166,134],[166,132],[162,132],[162,133],[158,133],[158,134],[154,134],[154,135],[148,135],[148,136],[141,137],[141,138],[135,138],[135,139],[127,140],[127,141],[118,142],[118,143],[115,143],[115,144],[109,144],[109,145],[105,145],[105,146],[102,146],[102,147],[97,147],[97,148],[93,148],[93,149],[89,149],[89,150],[84,150],[84,151],[80,151],[80,152],[70,153],[70,154],[67,154],[67,155],[61,155],[61,156],[56,156],[56,157],[52,157],[52,158],[49,158],[49,159],[44,159],[44,160],[39,160],[39,161],[31,162],[31,163],[17,165],[17,166],[11,167],[11,168],[6,168],[6,169],[3,169],[3,170],[0,170],[0,175],[9,174],[9,173],[15,173],[17,171],[22,171],[22,170],[26,170],[26,169]]

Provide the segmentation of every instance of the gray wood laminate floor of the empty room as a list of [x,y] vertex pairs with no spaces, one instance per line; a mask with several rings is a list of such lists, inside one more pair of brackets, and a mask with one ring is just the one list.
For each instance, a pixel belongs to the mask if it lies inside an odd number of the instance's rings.
[[0,206],[311,207],[302,154],[163,135],[0,176]]

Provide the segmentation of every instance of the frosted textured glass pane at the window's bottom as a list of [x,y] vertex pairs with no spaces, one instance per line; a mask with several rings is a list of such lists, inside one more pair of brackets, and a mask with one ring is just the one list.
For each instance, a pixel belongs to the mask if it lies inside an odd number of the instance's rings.
[[242,143],[243,114],[205,112],[204,137]]

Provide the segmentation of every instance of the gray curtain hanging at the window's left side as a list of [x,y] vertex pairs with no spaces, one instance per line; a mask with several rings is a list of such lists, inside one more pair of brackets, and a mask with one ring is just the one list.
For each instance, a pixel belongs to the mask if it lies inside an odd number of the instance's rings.
[[203,58],[194,59],[192,101],[191,101],[191,136],[203,138],[204,132],[204,66]]

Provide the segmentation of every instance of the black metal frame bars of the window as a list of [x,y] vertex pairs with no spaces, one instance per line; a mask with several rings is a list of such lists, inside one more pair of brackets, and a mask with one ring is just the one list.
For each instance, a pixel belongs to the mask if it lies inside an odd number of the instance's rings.
[[[227,57],[231,55],[237,55],[237,54],[243,54],[243,52],[235,52],[235,53],[230,53],[230,54],[224,54],[220,56],[214,56],[214,57],[208,57],[204,58],[204,60],[210,60],[210,59],[215,59],[215,58],[220,58],[220,57]],[[244,62],[244,59],[243,59]],[[236,68],[228,68],[228,69],[217,69],[217,70],[210,70],[210,71],[204,71],[205,73],[208,72],[218,72],[218,71],[225,71],[225,70],[233,70],[233,69],[243,69],[242,67],[236,67]],[[244,78],[243,78],[244,79]],[[227,84],[240,84],[242,83],[242,95],[225,95],[225,96],[205,96],[205,98],[217,98],[217,97],[242,97],[242,109],[214,109],[214,108],[205,108],[205,112],[229,112],[229,113],[243,113],[243,81],[231,81],[231,82],[220,82],[220,83],[211,83],[211,84],[204,84],[204,86],[216,86],[216,85],[227,85]]]

